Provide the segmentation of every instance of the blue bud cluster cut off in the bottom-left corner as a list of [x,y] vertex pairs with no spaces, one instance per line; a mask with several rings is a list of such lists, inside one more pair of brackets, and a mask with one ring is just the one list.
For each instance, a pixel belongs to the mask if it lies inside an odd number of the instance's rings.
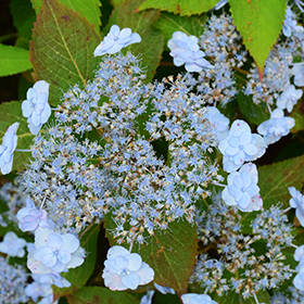
[[22,266],[12,266],[0,256],[0,304],[28,303],[25,293],[27,273]]

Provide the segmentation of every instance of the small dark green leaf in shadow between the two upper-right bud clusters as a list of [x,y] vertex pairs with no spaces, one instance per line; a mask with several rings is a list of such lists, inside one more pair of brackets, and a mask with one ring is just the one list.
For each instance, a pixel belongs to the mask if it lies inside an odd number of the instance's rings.
[[255,104],[252,97],[245,96],[240,91],[237,96],[241,112],[245,115],[250,123],[259,125],[270,118],[269,110],[266,103]]

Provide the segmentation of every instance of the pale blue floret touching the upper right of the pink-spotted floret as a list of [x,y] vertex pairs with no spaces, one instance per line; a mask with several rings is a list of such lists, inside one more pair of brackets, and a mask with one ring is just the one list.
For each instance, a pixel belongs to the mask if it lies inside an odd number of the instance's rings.
[[282,136],[289,134],[294,126],[292,117],[284,117],[281,109],[276,109],[270,116],[270,119],[262,123],[257,127],[257,131],[263,135],[267,144],[278,141]]

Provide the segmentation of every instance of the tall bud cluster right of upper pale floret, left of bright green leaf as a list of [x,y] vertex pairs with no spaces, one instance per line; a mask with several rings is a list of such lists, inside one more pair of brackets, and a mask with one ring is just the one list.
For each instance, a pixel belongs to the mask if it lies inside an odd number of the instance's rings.
[[[207,103],[225,105],[237,94],[233,68],[245,62],[246,52],[242,50],[241,36],[230,16],[213,15],[200,43],[214,67],[200,73],[197,89]],[[192,81],[195,83],[195,79]]]

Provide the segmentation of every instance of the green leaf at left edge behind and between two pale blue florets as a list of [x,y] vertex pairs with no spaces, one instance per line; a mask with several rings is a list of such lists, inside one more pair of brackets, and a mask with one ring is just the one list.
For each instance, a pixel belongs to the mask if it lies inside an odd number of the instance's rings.
[[[0,137],[2,138],[7,129],[14,123],[20,123],[17,129],[17,149],[29,149],[34,136],[27,127],[27,119],[23,117],[21,101],[3,102],[0,104]],[[29,152],[14,152],[13,170],[23,170],[30,157]]]

